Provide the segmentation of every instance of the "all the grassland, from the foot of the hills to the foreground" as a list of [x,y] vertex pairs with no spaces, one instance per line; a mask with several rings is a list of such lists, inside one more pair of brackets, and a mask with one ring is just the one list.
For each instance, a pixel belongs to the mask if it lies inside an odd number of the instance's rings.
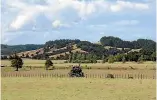
[[[102,77],[68,78],[72,65],[64,60],[53,60],[54,70],[45,70],[45,60],[23,59],[24,65],[18,72],[10,67],[9,60],[2,60],[2,100],[155,100],[155,62],[115,62],[81,64],[83,72]],[[99,61],[101,62],[101,61]],[[131,66],[131,67],[130,67]],[[57,77],[52,75],[57,73]],[[4,75],[14,75],[6,76]],[[106,74],[138,75],[147,78],[108,79]],[[16,76],[17,75],[17,76]],[[41,77],[38,75],[46,75]],[[58,76],[59,75],[59,76]]]

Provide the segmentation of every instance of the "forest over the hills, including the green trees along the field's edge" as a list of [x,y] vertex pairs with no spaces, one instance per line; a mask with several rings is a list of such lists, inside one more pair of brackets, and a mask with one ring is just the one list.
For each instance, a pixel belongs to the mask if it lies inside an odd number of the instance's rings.
[[[76,46],[75,49],[80,49],[80,51],[73,52],[75,51],[74,45]],[[67,62],[90,63],[95,63],[97,60],[103,60],[104,62],[156,61],[156,42],[148,39],[124,41],[118,37],[104,36],[100,39],[100,43],[91,43],[79,39],[60,39],[47,41],[44,45],[16,45],[12,47],[2,45],[2,54],[4,54],[5,48],[11,48],[15,52],[43,48],[43,53],[37,52],[31,54],[31,56],[23,56],[32,59],[50,58],[67,60]],[[53,55],[59,56],[53,57]]]

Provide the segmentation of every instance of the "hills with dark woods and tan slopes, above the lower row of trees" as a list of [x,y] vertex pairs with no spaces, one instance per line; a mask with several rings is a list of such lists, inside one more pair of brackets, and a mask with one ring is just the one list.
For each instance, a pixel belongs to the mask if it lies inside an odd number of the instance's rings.
[[[151,60],[151,56],[155,53],[155,45],[156,42],[147,39],[123,41],[120,38],[109,36],[102,37],[98,43],[78,39],[60,39],[48,41],[44,45],[2,45],[2,54],[11,54],[15,50],[23,58],[64,60],[70,59],[70,56],[71,59],[86,59],[86,57],[103,59],[110,55],[127,54],[132,56],[131,59],[128,58],[130,60],[137,60],[141,55],[144,55],[146,60]],[[74,55],[75,57],[72,57]]]

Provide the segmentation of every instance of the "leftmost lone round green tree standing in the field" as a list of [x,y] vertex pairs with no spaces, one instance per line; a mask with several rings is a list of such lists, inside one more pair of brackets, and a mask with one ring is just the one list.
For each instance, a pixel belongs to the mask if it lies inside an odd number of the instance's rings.
[[11,60],[11,66],[16,68],[15,71],[18,71],[19,68],[22,68],[22,65],[23,60],[15,54],[15,56]]

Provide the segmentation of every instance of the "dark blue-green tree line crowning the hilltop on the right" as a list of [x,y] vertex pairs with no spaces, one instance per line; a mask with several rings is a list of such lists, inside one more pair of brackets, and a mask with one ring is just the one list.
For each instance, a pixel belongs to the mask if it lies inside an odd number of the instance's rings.
[[118,37],[104,36],[100,39],[103,46],[112,46],[117,48],[131,48],[131,49],[144,49],[149,51],[155,51],[156,42],[148,39],[138,39],[137,41],[124,41]]

